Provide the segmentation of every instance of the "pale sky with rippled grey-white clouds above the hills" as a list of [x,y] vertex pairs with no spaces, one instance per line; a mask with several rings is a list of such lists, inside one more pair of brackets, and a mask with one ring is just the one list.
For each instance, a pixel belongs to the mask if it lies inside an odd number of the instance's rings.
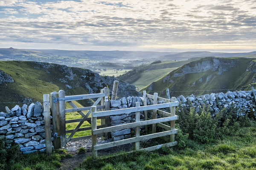
[[0,0],[0,48],[256,51],[256,0]]

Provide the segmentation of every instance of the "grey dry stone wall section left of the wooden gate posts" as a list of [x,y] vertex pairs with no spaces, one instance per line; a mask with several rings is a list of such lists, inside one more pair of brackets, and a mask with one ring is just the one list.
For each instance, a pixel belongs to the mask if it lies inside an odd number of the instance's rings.
[[6,142],[18,143],[23,154],[45,152],[44,113],[41,103],[32,103],[29,107],[26,104],[22,107],[16,105],[11,110],[6,106],[6,113],[0,112],[0,138],[3,137]]

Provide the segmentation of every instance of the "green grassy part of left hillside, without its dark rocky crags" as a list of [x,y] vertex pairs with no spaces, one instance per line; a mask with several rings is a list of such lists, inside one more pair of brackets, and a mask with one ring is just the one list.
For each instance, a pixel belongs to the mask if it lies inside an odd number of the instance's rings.
[[[55,65],[48,69],[49,73],[39,69],[35,62],[19,61],[0,61],[0,69],[9,74],[14,83],[3,83],[0,85],[0,101],[14,102],[0,104],[0,111],[5,111],[4,107],[15,106],[25,98],[31,98],[34,101],[43,101],[43,94],[50,94],[52,91],[66,89],[65,85],[59,80],[64,78],[60,71],[60,65]],[[77,73],[78,74],[78,73]],[[73,82],[79,81],[78,79]],[[77,87],[67,91],[67,95],[88,94],[85,88]]]

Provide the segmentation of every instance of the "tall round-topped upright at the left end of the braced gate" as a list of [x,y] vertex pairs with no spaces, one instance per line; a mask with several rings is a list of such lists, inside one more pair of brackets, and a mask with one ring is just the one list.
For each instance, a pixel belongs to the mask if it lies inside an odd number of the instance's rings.
[[[65,98],[65,91],[59,91],[59,98]],[[61,138],[61,147],[66,146],[66,117],[65,117],[65,100],[59,101],[60,109],[60,138]]]

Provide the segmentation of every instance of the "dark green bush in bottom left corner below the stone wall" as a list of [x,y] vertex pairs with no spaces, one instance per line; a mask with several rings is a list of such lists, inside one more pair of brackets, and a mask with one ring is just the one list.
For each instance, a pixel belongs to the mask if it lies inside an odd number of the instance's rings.
[[0,139],[0,169],[10,169],[18,156],[20,146],[15,142],[6,142],[5,138]]

